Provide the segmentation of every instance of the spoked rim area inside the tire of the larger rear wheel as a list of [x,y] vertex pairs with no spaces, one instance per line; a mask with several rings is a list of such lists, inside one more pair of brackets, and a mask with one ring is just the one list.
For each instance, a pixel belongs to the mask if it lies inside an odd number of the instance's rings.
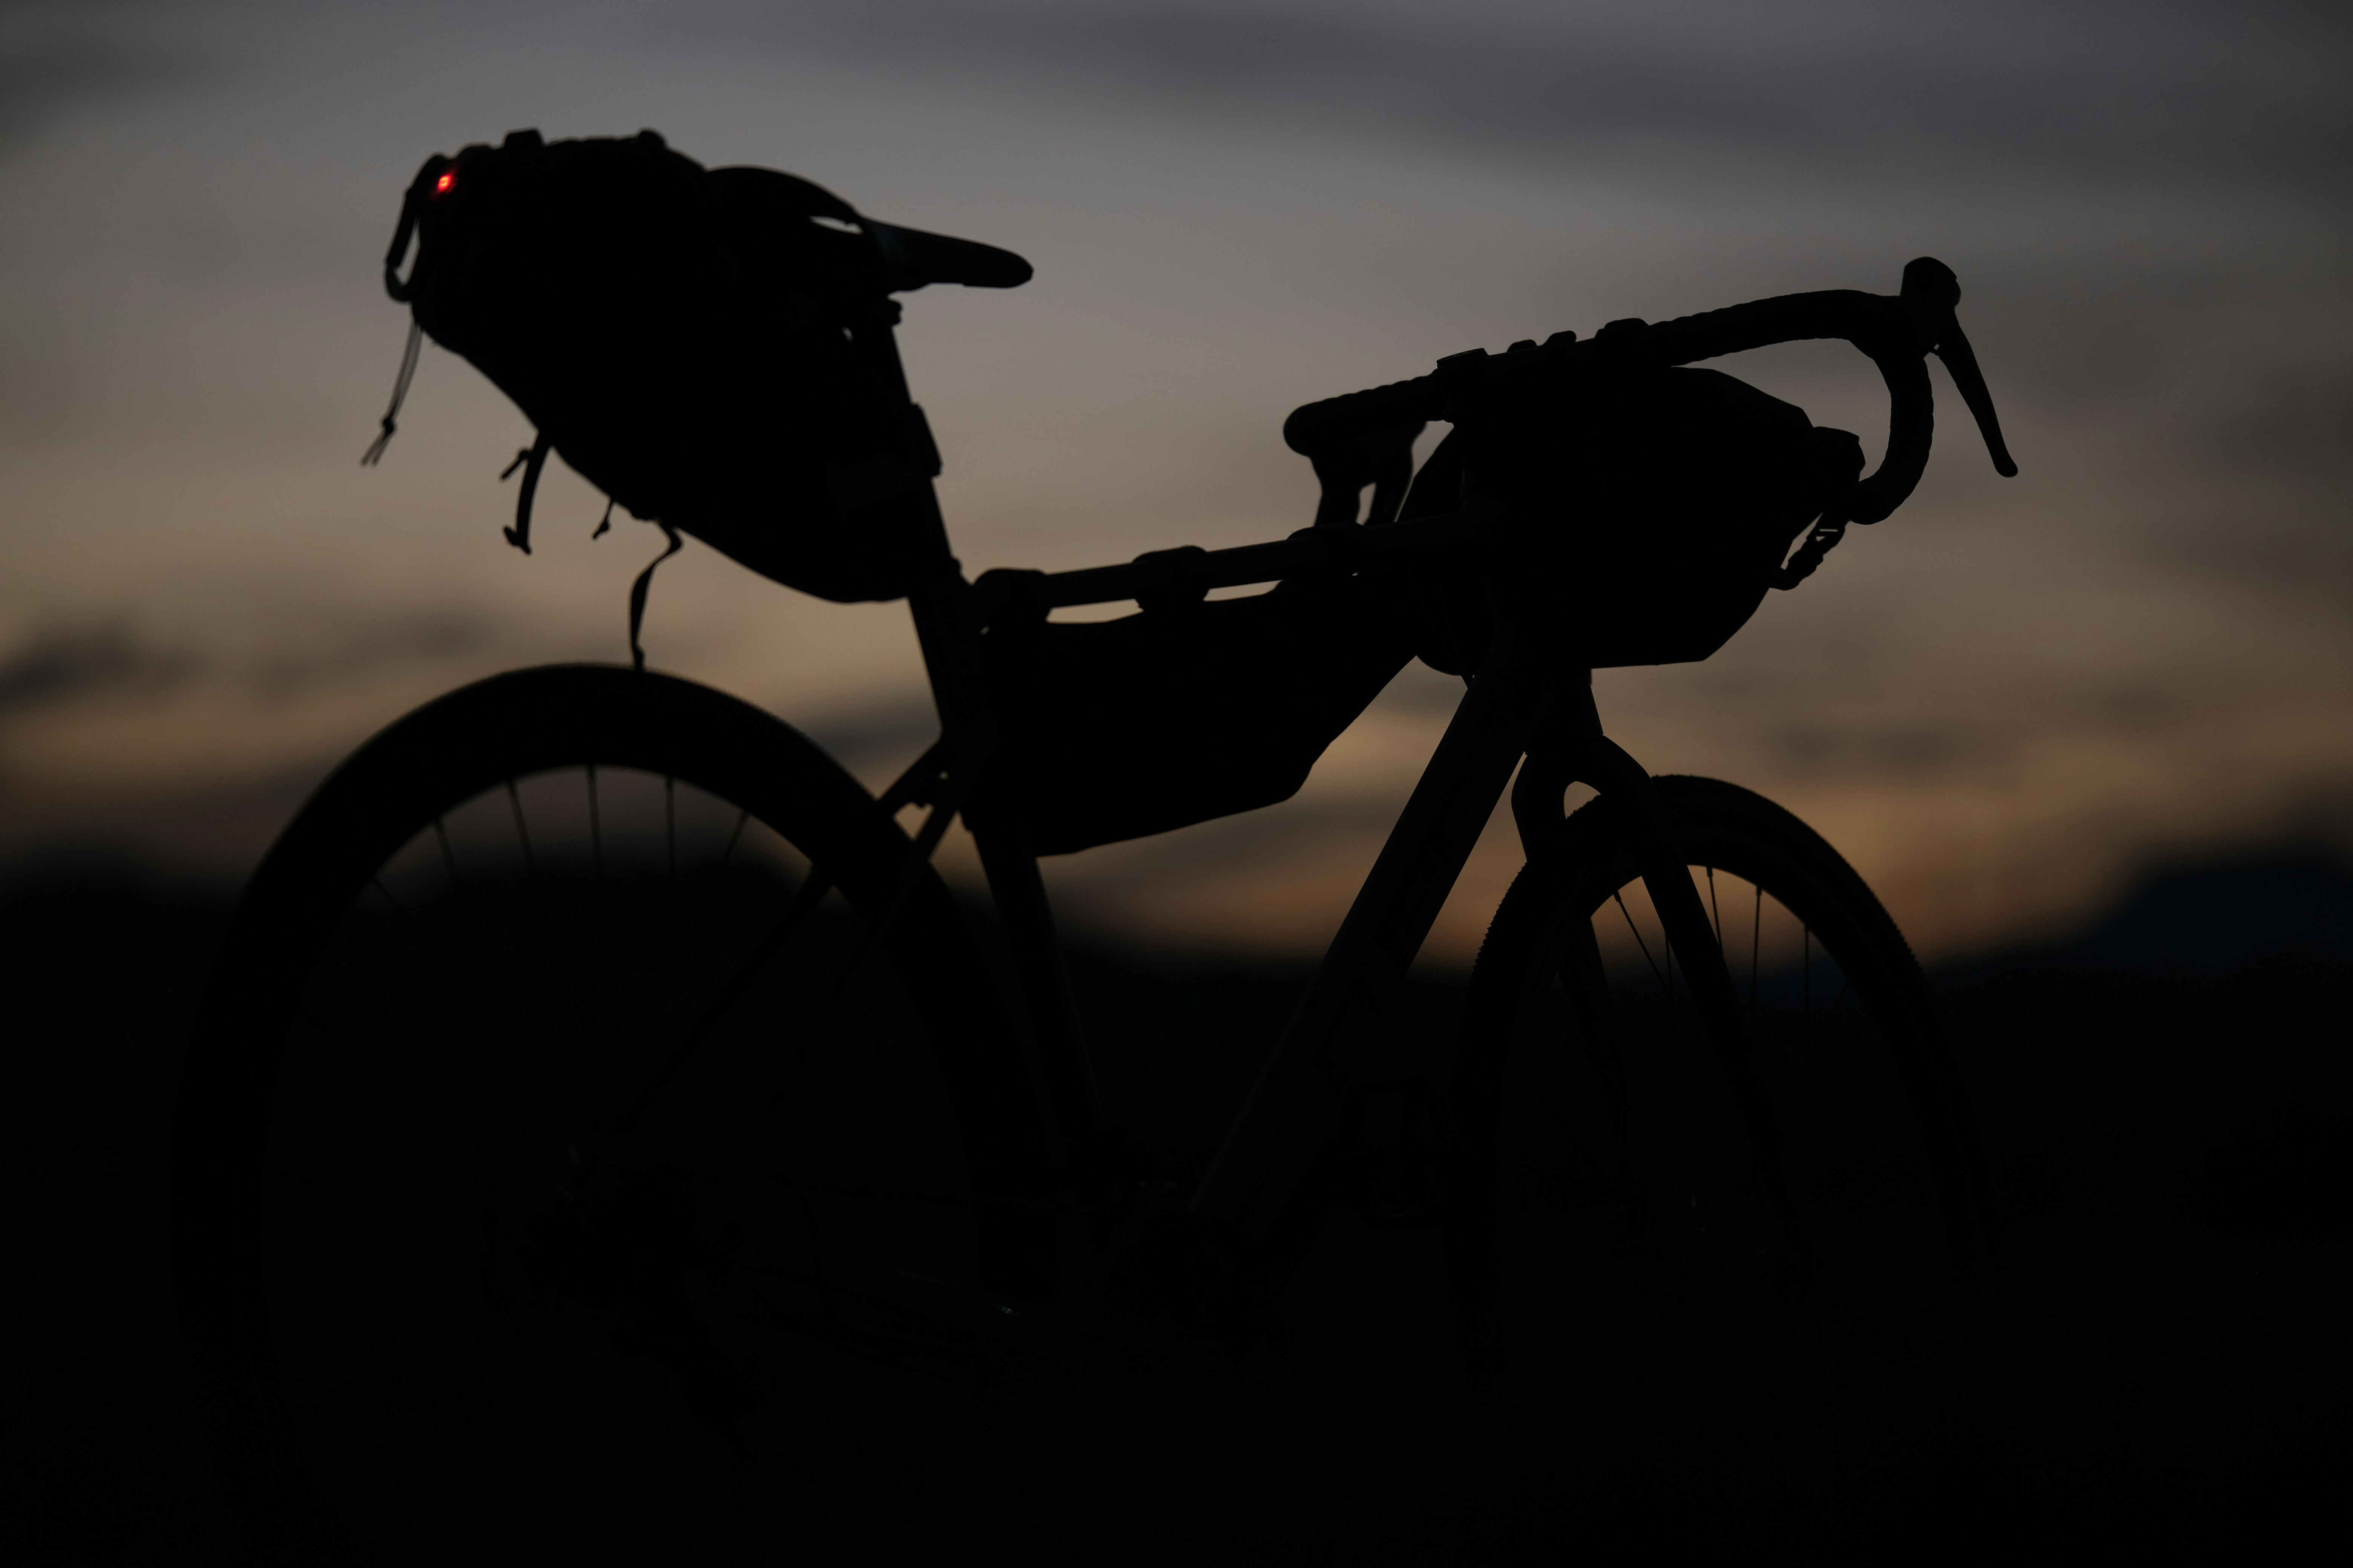
[[445,1403],[475,1458],[591,1408],[635,1441],[727,1429],[809,1333],[889,1354],[908,1298],[969,1293],[948,1093],[838,896],[696,1032],[812,891],[758,816],[586,764],[473,795],[376,867],[275,1103],[299,1408],[381,1448]]

